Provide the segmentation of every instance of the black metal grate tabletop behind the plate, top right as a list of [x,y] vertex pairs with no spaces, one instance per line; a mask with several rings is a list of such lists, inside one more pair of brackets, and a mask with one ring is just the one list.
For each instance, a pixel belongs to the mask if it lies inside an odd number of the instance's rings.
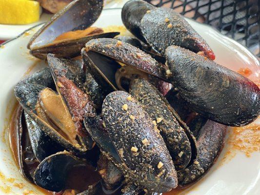
[[260,56],[260,0],[146,0],[209,24]]

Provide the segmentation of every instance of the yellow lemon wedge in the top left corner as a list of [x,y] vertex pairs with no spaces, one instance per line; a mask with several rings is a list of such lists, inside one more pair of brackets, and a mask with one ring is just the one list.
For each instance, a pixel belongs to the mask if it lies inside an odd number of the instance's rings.
[[40,19],[41,7],[35,0],[0,0],[0,24],[29,24]]

